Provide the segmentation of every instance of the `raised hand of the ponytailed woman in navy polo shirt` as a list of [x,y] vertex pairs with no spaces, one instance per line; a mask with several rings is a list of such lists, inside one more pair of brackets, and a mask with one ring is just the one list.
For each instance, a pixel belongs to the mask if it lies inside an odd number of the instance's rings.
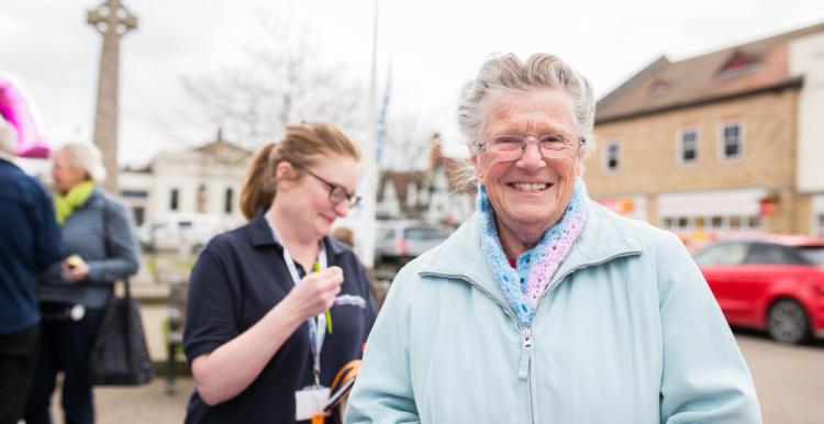
[[298,313],[309,319],[332,308],[335,297],[341,292],[343,270],[341,267],[329,267],[303,277],[292,291],[283,299]]

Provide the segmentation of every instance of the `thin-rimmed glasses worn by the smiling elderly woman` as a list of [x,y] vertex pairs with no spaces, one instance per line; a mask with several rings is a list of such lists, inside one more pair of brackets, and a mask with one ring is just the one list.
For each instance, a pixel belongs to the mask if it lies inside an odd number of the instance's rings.
[[578,156],[581,147],[587,144],[587,138],[570,133],[541,136],[499,135],[489,141],[478,141],[475,146],[479,152],[486,152],[494,161],[512,161],[521,159],[526,146],[533,143],[538,146],[544,159],[570,159]]

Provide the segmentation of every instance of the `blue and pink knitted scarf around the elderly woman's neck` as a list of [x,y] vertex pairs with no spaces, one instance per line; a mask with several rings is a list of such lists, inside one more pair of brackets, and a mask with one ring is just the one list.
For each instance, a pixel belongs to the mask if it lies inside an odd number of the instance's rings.
[[541,297],[583,227],[587,216],[587,187],[581,179],[576,181],[569,204],[560,221],[544,233],[535,247],[517,257],[515,269],[512,269],[503,253],[494,211],[482,185],[478,189],[477,210],[481,246],[498,286],[521,327],[528,328]]

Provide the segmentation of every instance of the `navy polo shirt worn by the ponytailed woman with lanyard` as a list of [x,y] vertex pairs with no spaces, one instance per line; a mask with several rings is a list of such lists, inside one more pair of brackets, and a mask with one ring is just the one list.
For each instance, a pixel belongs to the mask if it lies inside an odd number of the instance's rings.
[[[321,383],[363,355],[377,309],[366,269],[347,246],[323,238],[329,266],[338,266],[344,282],[331,308],[333,332],[321,350]],[[192,269],[183,332],[189,362],[211,353],[257,323],[289,293],[294,282],[263,212],[248,224],[214,237]],[[294,392],[313,381],[309,324],[283,343],[243,392],[209,406],[196,391],[187,423],[294,423]]]

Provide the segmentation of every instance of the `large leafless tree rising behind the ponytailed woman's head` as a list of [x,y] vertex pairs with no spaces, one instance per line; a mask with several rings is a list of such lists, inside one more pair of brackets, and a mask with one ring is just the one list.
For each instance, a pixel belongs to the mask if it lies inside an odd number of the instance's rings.
[[255,44],[244,47],[244,63],[218,76],[183,78],[202,121],[249,144],[272,140],[291,122],[331,121],[347,130],[361,125],[360,83],[343,65],[323,62],[305,26],[261,21],[259,32]]

